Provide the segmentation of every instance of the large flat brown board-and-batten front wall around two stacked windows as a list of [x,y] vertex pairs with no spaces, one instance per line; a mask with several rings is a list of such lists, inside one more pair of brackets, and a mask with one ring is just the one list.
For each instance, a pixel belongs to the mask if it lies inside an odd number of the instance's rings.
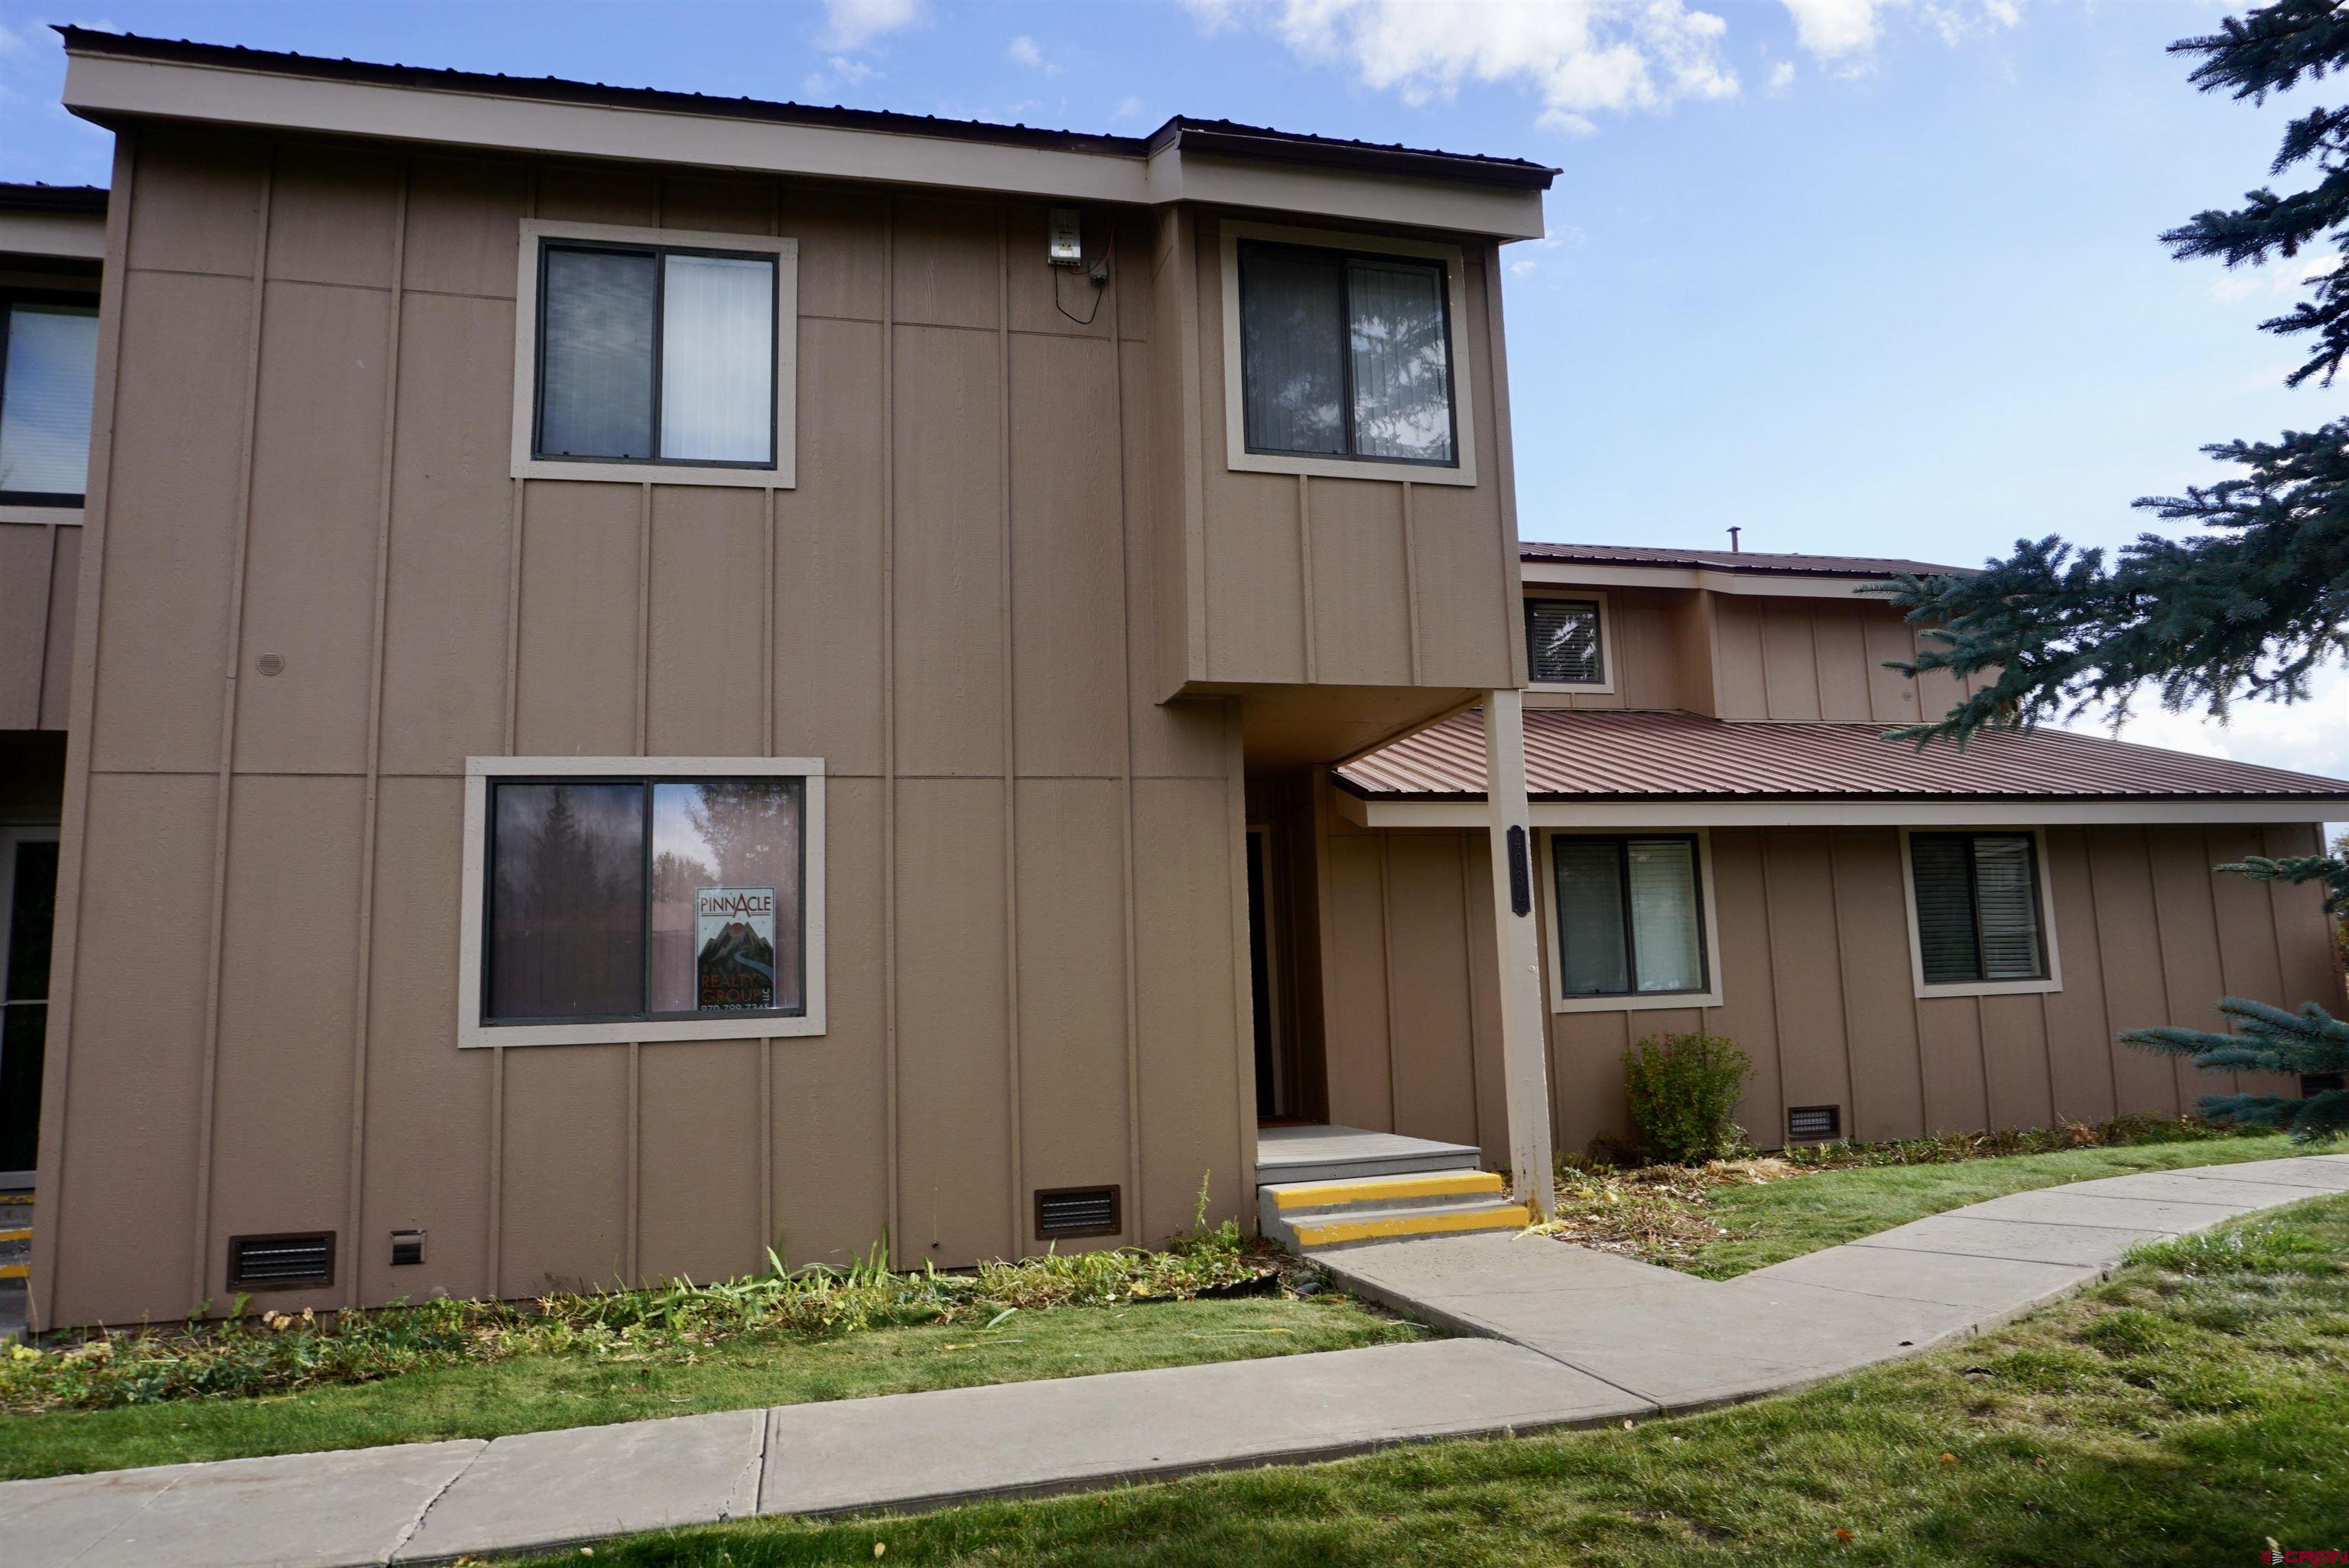
[[[348,1232],[324,1307],[1236,1209],[1238,723],[1158,704],[1144,268],[1081,326],[1041,207],[155,129],[115,192],[47,1322],[221,1298],[244,1232]],[[533,216],[799,239],[796,488],[510,477]],[[498,753],[822,756],[829,1033],[458,1052]]]

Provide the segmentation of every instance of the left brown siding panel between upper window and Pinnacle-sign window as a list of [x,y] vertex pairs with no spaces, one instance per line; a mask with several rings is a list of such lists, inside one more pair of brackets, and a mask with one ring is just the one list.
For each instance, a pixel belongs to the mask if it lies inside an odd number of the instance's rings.
[[524,488],[519,756],[637,751],[637,573],[644,493],[632,484]]

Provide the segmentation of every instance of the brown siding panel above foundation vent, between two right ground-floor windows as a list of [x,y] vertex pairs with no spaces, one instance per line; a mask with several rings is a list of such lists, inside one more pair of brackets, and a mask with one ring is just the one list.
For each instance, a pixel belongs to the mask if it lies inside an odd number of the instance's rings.
[[[1830,859],[1835,840],[1828,831],[1778,829],[1762,843],[1769,871],[1771,993],[1778,998],[1783,1103],[1842,1106],[1849,1120],[1851,1059],[1844,1042]],[[1783,1120],[1773,1131],[1783,1136]]]

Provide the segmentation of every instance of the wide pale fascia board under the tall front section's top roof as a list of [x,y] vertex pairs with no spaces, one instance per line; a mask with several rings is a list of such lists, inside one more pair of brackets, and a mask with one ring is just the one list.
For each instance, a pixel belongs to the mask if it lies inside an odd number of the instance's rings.
[[803,174],[1064,202],[1137,207],[1219,202],[1506,239],[1541,237],[1539,190],[1186,157],[1179,141],[1151,157],[1125,157],[958,136],[733,120],[721,103],[712,103],[707,113],[547,103],[423,85],[390,87],[110,54],[68,56],[63,101],[85,115],[155,115],[197,124]]

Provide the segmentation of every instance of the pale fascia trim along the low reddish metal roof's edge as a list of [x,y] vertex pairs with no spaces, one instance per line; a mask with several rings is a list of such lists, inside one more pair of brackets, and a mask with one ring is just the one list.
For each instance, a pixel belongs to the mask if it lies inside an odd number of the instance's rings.
[[[1332,791],[1337,810],[1365,829],[1482,829],[1482,796],[1445,800],[1365,800]],[[2147,822],[2340,822],[2349,796],[2311,800],[2069,800],[2004,796],[1992,800],[1534,800],[1536,829],[1863,829],[1863,826],[2058,826]]]

